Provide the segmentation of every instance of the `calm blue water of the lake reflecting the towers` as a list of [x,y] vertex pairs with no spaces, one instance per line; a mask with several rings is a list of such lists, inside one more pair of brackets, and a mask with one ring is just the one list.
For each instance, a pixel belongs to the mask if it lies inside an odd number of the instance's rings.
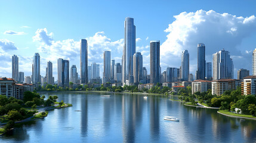
[[[42,94],[43,95],[43,94]],[[73,107],[49,111],[0,142],[255,142],[256,121],[187,107],[169,98],[103,93],[47,93]],[[75,111],[81,110],[81,111]],[[180,122],[163,120],[175,116]]]

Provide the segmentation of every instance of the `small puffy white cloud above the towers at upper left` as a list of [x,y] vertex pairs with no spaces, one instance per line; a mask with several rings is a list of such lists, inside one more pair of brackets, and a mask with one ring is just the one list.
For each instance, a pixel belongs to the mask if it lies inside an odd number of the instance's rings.
[[53,32],[48,34],[46,28],[38,29],[36,30],[36,35],[33,36],[33,41],[38,41],[45,45],[51,46],[53,42]]

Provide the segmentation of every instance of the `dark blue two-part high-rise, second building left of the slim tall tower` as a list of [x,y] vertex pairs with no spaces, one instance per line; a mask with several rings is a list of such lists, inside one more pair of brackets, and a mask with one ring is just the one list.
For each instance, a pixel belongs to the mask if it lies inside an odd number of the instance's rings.
[[58,58],[58,86],[69,86],[69,60]]

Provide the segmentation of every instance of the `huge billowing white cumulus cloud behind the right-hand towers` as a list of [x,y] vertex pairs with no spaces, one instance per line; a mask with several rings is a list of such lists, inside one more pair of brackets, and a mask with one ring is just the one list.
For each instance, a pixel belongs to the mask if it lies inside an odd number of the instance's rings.
[[[187,49],[190,53],[190,69],[193,70],[190,72],[193,73],[196,70],[192,68],[192,65],[197,62],[198,43],[205,43],[206,61],[208,62],[212,62],[212,54],[223,48],[236,58],[246,52],[240,47],[240,43],[256,30],[254,15],[237,17],[212,10],[199,10],[196,13],[183,12],[175,15],[174,18],[174,22],[164,30],[168,35],[161,45],[161,62],[169,66],[180,67],[181,52]],[[234,60],[234,65],[238,67],[237,69],[243,68],[243,65],[236,60]]]

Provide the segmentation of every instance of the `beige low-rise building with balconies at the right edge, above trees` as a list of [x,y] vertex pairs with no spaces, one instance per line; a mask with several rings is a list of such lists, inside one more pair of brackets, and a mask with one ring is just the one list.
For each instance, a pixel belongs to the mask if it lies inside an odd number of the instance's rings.
[[246,76],[241,83],[242,95],[256,95],[256,76]]

